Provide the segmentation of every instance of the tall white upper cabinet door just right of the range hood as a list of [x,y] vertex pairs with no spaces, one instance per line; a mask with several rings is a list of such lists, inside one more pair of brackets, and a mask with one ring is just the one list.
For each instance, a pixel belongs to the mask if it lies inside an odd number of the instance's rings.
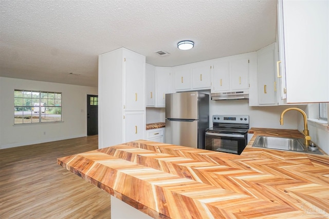
[[257,51],[259,104],[276,105],[275,44]]

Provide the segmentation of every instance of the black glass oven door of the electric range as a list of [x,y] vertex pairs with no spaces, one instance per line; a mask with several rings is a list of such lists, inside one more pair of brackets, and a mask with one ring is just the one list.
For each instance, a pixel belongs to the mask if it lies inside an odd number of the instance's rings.
[[205,132],[205,149],[241,154],[247,145],[247,134]]

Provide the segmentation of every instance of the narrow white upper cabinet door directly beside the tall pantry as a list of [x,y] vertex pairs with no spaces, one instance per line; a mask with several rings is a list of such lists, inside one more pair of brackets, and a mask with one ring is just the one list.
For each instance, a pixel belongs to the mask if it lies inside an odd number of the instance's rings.
[[146,78],[146,106],[155,106],[155,66],[150,64],[145,65]]

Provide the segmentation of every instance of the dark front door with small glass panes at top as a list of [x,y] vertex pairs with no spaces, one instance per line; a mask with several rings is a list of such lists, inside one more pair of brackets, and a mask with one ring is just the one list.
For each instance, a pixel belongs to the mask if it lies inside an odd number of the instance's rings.
[[98,95],[87,95],[87,135],[98,134]]

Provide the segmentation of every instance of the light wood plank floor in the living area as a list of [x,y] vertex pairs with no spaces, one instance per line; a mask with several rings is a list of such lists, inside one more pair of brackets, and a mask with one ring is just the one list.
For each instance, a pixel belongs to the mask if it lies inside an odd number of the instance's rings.
[[57,164],[98,136],[0,150],[0,218],[111,218],[110,195]]

